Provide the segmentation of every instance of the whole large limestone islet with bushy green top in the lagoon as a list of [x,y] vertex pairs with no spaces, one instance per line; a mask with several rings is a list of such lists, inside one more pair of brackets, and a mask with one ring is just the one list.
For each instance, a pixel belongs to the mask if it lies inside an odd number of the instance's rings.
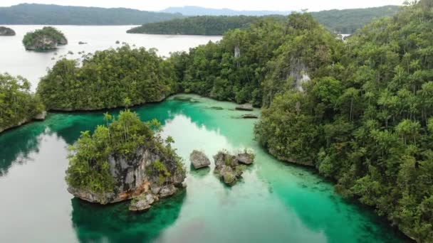
[[105,120],[111,123],[93,135],[82,132],[70,148],[69,193],[103,205],[134,198],[130,210],[139,211],[183,187],[184,166],[171,148],[172,138],[160,137],[156,120],[142,122],[129,110],[117,119],[105,114]]

